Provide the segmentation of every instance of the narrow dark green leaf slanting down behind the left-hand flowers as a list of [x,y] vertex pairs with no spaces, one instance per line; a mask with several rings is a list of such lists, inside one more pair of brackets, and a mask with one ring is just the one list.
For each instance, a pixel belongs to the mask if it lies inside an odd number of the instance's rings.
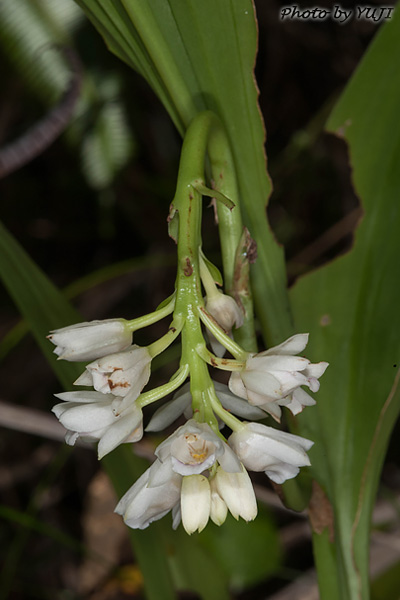
[[[32,262],[18,242],[0,225],[0,277],[10,295],[29,322],[39,346],[51,367],[66,389],[80,374],[78,363],[57,361],[52,354],[52,344],[45,338],[50,329],[82,320],[65,297],[47,279],[45,274]],[[128,452],[128,455],[127,455]],[[109,476],[117,482],[117,489],[124,492],[134,483],[134,477],[141,474],[142,461],[124,448],[114,451],[105,461]],[[118,471],[116,471],[118,465]],[[146,594],[151,600],[160,598],[173,600],[175,592],[172,575],[167,562],[166,545],[160,544],[162,526],[155,523],[144,532],[131,531],[134,551],[139,566],[145,576]],[[157,577],[154,577],[154,571]],[[149,576],[149,574],[151,576]]]

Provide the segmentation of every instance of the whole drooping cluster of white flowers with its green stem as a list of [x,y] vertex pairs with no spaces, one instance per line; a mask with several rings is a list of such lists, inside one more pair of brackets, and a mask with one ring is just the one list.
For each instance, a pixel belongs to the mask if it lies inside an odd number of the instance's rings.
[[[183,157],[190,155],[189,142],[185,138]],[[282,407],[296,415],[315,404],[304,388],[318,391],[328,366],[298,356],[307,334],[260,353],[233,339],[232,331],[240,331],[248,320],[248,308],[240,295],[219,289],[218,270],[201,250],[202,196],[218,199],[218,194],[207,190],[191,164],[182,159],[169,216],[178,246],[174,294],[156,311],[131,321],[81,323],[49,335],[59,359],[90,361],[75,381],[89,389],[56,395],[61,403],[53,412],[67,429],[68,444],[78,438],[98,441],[102,458],[119,444],[137,442],[143,436],[143,409],[175,393],[154,412],[146,431],[162,431],[182,415],[186,422],[156,448],[155,461],[115,510],[138,529],[172,511],[173,527],[182,521],[188,534],[202,531],[209,519],[221,525],[228,511],[236,519],[255,518],[248,470],[264,472],[281,484],[310,464],[312,441],[259,421],[271,416],[279,422]],[[232,208],[223,206],[227,214]],[[136,330],[169,315],[164,336],[146,347],[132,343]],[[143,391],[153,358],[178,336],[178,370],[167,383]],[[225,358],[226,352],[231,357]],[[209,366],[230,372],[228,385],[214,381]]]

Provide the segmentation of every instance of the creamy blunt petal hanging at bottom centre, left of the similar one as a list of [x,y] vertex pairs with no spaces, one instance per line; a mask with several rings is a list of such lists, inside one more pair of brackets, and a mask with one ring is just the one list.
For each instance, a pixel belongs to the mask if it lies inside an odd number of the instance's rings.
[[202,531],[208,523],[211,509],[211,491],[207,477],[190,475],[182,479],[182,525],[189,535]]

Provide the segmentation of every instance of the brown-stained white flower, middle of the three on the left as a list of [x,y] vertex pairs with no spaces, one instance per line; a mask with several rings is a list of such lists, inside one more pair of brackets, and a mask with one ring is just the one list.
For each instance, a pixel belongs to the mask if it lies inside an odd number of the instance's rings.
[[[147,348],[130,346],[123,352],[91,362],[74,385],[93,386],[102,394],[114,394],[135,400],[150,378],[151,356]],[[126,403],[121,404],[124,410]]]

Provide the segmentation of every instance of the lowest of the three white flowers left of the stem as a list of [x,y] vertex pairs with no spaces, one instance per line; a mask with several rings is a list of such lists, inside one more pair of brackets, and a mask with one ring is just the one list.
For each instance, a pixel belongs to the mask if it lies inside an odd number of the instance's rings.
[[114,450],[119,444],[137,442],[143,436],[143,416],[134,403],[116,415],[112,394],[99,392],[65,392],[56,394],[63,400],[52,411],[67,429],[66,442],[73,446],[78,437],[98,440],[99,459]]

